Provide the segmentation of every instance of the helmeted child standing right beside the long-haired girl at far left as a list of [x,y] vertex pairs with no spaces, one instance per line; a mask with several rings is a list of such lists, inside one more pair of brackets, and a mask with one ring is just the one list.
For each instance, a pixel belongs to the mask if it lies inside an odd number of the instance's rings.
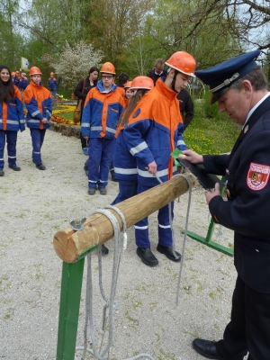
[[49,129],[49,119],[52,112],[52,100],[49,90],[41,84],[39,67],[31,67],[29,75],[31,83],[24,91],[24,102],[27,108],[26,124],[31,131],[32,161],[39,170],[46,167],[41,160],[41,147],[45,132]]

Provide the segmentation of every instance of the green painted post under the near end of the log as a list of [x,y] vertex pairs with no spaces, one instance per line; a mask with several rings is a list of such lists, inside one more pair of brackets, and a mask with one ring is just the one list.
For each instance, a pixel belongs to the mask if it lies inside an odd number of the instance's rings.
[[74,264],[63,262],[58,320],[57,360],[74,360],[85,257]]

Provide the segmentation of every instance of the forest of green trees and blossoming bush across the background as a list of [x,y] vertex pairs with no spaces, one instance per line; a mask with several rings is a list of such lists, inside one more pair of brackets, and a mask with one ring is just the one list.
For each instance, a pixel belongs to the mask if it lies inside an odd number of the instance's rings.
[[0,0],[0,19],[1,63],[27,58],[67,88],[104,61],[134,77],[178,50],[202,69],[261,49],[270,79],[270,0]]

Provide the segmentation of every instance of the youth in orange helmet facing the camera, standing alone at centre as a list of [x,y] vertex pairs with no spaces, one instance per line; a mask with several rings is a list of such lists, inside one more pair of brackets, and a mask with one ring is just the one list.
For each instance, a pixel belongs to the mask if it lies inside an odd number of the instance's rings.
[[85,99],[81,133],[89,139],[88,193],[94,195],[96,187],[102,195],[107,193],[108,174],[114,148],[116,122],[125,101],[114,85],[115,68],[106,62],[101,70],[102,79]]

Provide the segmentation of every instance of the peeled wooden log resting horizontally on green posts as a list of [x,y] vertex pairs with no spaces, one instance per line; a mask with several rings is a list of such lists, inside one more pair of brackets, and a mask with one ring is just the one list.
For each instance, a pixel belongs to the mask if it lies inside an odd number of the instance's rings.
[[[185,173],[191,186],[197,185],[196,178],[189,173]],[[172,202],[178,196],[187,192],[188,182],[182,176],[175,176],[166,183],[159,184],[152,189],[139,193],[124,202],[120,202],[117,207],[123,214],[127,228],[134,225],[139,220],[144,219],[151,213]],[[119,222],[120,229],[123,229],[121,217],[116,211],[111,211]],[[85,228],[79,231],[72,229],[59,230],[54,238],[53,245],[55,251],[66,263],[75,263],[80,254],[94,247],[96,244],[103,244],[113,237],[113,227],[111,221],[103,214],[97,213],[85,220]]]

